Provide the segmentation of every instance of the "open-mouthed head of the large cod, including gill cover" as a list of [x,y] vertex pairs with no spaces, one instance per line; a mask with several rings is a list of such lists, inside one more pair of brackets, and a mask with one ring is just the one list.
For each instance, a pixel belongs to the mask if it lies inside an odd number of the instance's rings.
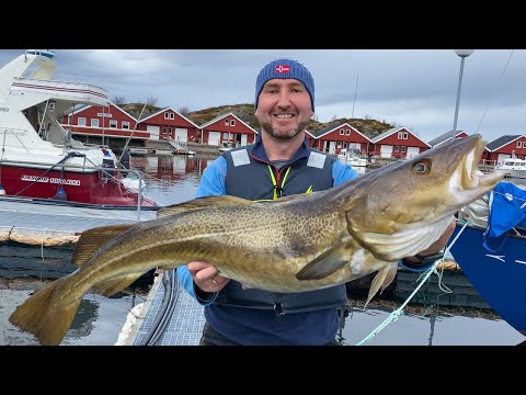
[[451,139],[362,176],[346,210],[350,233],[387,261],[426,249],[457,211],[503,179],[478,169],[484,147],[478,134]]

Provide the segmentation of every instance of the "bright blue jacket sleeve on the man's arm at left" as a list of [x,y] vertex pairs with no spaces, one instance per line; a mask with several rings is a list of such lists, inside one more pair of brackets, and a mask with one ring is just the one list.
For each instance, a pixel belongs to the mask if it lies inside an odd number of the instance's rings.
[[[224,157],[219,157],[208,165],[203,172],[201,178],[199,187],[197,187],[197,192],[195,198],[203,198],[209,195],[224,195],[226,194],[225,189],[225,177],[227,174],[227,161]],[[195,294],[195,284],[192,275],[190,274],[186,266],[178,268],[178,280],[183,285],[184,290],[194,297],[201,305],[206,306],[213,303],[217,297],[217,292],[209,293],[209,297],[203,300]]]

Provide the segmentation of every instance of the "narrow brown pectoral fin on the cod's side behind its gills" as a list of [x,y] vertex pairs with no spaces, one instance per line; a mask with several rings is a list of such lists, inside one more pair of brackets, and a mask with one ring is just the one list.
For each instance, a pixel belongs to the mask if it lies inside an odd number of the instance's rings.
[[298,280],[321,280],[342,269],[348,262],[346,242],[339,241],[330,249],[319,255],[296,273]]

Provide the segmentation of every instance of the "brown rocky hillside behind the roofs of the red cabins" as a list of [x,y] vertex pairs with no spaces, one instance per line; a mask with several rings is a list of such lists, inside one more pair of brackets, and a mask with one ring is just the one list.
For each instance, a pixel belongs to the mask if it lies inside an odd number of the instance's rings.
[[[160,108],[157,108],[153,105],[145,106],[145,104],[140,104],[140,103],[121,104],[121,108],[126,112],[128,112],[129,114],[132,114],[133,116],[135,116],[136,119],[138,119],[139,115],[140,115],[140,119],[144,119],[160,110]],[[179,111],[179,112],[197,125],[202,125],[215,119],[218,115],[228,114],[229,112],[231,112],[236,114],[236,116],[238,116],[240,120],[245,122],[248,125],[253,127],[254,129],[258,129],[260,127],[260,124],[258,123],[258,120],[254,116],[253,104],[220,105],[216,108],[192,111],[192,112],[186,112],[186,111]],[[390,129],[391,127],[395,127],[395,125],[390,125],[388,123],[379,122],[370,119],[367,119],[367,120],[338,119],[338,120],[325,122],[325,123],[310,120],[310,123],[307,129],[309,132],[316,133],[329,126],[339,125],[345,122],[348,123],[351,126],[355,127],[356,129],[358,129],[359,132],[362,132],[364,135],[366,135],[369,138],[375,137],[380,133],[384,133],[387,129]]]

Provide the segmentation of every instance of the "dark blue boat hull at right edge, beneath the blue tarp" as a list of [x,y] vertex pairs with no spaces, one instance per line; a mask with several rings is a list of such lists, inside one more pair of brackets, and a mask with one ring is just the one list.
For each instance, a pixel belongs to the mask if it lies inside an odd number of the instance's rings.
[[[457,224],[451,240],[461,227]],[[508,235],[492,252],[482,245],[484,230],[467,226],[450,252],[482,298],[526,335],[526,237]]]

